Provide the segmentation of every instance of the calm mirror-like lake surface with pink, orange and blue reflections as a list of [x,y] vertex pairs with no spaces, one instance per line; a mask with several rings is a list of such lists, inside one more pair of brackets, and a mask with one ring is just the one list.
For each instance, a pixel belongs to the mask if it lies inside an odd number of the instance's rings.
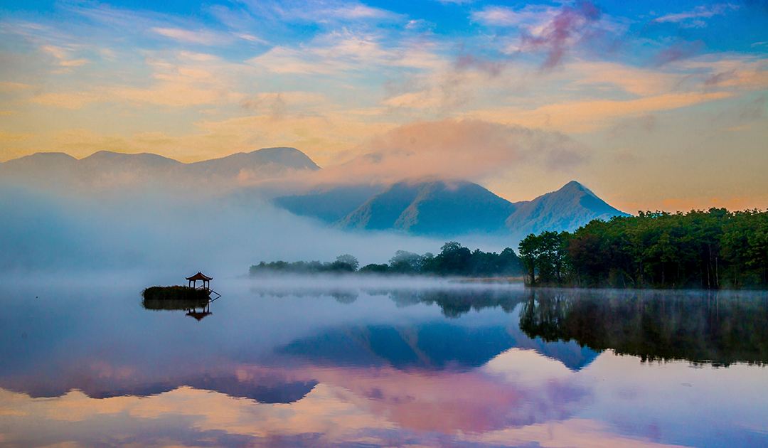
[[0,444],[768,445],[766,294],[145,286],[3,286]]

